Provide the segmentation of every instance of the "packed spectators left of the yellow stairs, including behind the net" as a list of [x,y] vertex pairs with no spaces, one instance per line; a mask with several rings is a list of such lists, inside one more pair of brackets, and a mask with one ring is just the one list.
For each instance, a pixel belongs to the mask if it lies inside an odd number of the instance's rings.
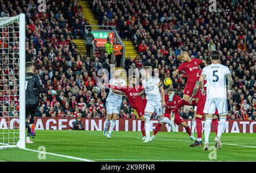
[[[108,90],[96,86],[97,70],[101,67],[110,71],[110,62],[104,57],[87,57],[77,51],[73,42],[76,36],[83,37],[84,25],[88,24],[77,1],[46,1],[46,12],[38,11],[36,1],[0,1],[1,17],[26,14],[26,61],[35,65],[47,90],[56,90],[56,96],[40,94],[38,117],[106,117],[105,102]],[[8,48],[17,48],[13,35],[5,35],[1,29],[0,65],[0,116],[18,116],[18,57],[10,54]],[[10,43],[8,43],[8,41]],[[9,51],[9,52],[6,52]],[[9,53],[9,54],[8,54]],[[13,62],[15,60],[15,62]],[[11,75],[15,69],[15,74]],[[16,79],[15,79],[16,78]],[[17,87],[14,90],[14,86]],[[120,117],[135,118],[127,100],[123,100]]]

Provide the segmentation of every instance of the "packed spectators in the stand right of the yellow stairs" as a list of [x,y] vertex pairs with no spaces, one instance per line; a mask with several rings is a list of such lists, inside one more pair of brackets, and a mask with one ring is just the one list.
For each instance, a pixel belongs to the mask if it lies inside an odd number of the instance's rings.
[[117,27],[137,48],[139,56],[128,55],[125,69],[159,69],[160,79],[172,78],[177,95],[186,83],[185,74],[172,77],[180,52],[203,60],[219,50],[234,81],[228,118],[255,119],[256,1],[217,1],[217,12],[209,12],[207,0],[94,0],[90,5],[100,24]]

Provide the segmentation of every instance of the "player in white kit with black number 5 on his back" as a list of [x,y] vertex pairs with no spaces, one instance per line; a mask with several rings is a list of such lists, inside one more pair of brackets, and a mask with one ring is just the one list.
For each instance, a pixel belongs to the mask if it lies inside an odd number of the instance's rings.
[[228,79],[228,97],[231,95],[233,79],[227,66],[221,65],[220,56],[218,51],[214,50],[210,58],[212,64],[204,67],[200,79],[199,85],[203,95],[206,91],[204,90],[204,79],[207,78],[207,99],[204,106],[204,113],[206,114],[205,125],[204,125],[204,136],[205,146],[204,150],[209,149],[209,136],[210,136],[210,125],[212,123],[213,114],[218,111],[220,116],[220,122],[218,123],[218,133],[214,138],[216,147],[222,148],[221,145],[221,134],[225,128],[226,116],[228,115],[228,99],[226,92],[226,79]]

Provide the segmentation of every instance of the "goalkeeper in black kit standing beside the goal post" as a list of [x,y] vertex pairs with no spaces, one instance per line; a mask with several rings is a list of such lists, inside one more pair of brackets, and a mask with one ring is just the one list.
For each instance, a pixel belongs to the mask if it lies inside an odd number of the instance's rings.
[[34,64],[30,61],[26,62],[26,128],[27,138],[26,143],[32,144],[30,135],[35,137],[35,113],[38,108],[39,94],[57,94],[55,90],[48,91],[43,88],[42,81],[39,75],[34,74]]

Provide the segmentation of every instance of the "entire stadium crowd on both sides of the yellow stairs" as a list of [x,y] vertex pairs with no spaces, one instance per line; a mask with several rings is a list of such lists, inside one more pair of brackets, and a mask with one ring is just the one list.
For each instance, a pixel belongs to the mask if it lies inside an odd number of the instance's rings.
[[[34,62],[35,73],[47,90],[57,91],[56,96],[40,94],[36,115],[76,117],[81,113],[82,117],[106,117],[108,90],[97,87],[102,75],[97,72],[101,68],[110,71],[110,61],[106,54],[87,57],[77,51],[73,39],[77,34],[82,37],[84,25],[89,24],[79,3],[47,0],[46,12],[37,10],[36,1],[0,3],[1,17],[26,14],[26,61]],[[233,96],[228,100],[229,119],[255,120],[256,1],[217,1],[217,12],[208,11],[206,0],[94,0],[90,7],[100,24],[117,27],[122,39],[133,41],[137,48],[139,56],[127,55],[125,69],[159,69],[160,79],[172,78],[177,95],[182,96],[186,83],[185,74],[172,77],[181,63],[177,55],[186,50],[192,58],[203,60],[211,50],[219,50],[221,64],[229,66],[234,80]],[[3,89],[11,79],[5,75],[2,56],[0,61],[0,116],[13,116],[5,112],[10,112],[9,104],[18,103],[14,94]],[[192,118],[193,109],[181,108],[180,114]],[[126,98],[119,117],[136,118]]]

